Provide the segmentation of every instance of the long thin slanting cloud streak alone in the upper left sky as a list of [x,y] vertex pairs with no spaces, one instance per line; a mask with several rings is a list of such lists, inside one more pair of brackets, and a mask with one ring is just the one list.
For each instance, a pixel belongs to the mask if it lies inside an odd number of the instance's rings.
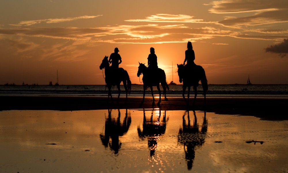
[[102,15],[97,16],[79,16],[79,17],[68,17],[68,18],[54,18],[54,19],[40,19],[40,20],[25,20],[18,23],[18,25],[23,26],[31,26],[39,23],[59,23],[59,22],[69,22],[73,20],[78,19],[90,19],[90,18],[96,18]]

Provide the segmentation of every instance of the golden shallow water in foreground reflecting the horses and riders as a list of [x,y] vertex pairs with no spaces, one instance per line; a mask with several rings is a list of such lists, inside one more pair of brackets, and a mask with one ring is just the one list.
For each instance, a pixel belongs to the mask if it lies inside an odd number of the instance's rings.
[[0,172],[288,172],[287,132],[199,111],[1,111]]

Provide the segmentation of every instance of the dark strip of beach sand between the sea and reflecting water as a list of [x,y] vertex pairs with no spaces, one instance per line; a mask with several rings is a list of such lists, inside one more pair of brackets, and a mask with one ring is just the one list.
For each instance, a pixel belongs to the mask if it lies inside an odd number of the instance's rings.
[[151,109],[161,110],[201,110],[215,112],[216,114],[251,115],[266,120],[288,120],[287,98],[197,98],[195,106],[192,106],[190,99],[187,106],[183,98],[168,97],[168,101],[162,101],[157,105],[158,98],[155,98],[155,105],[152,105],[152,98],[145,97],[141,105],[141,97],[129,97],[127,103],[121,97],[117,103],[114,99],[107,101],[107,97],[26,97],[26,96],[1,96],[0,110],[107,110],[107,109]]

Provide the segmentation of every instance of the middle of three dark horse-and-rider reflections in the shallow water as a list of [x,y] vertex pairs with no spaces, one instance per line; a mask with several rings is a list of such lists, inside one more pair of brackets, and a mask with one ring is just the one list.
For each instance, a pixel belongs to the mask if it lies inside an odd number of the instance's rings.
[[152,157],[155,153],[155,149],[157,148],[158,138],[165,133],[166,130],[166,111],[164,112],[164,116],[162,121],[161,118],[161,110],[159,110],[159,115],[153,120],[153,111],[151,112],[150,120],[146,120],[145,110],[143,110],[143,129],[141,131],[140,126],[138,126],[138,136],[140,139],[144,140],[145,137],[148,138],[148,147],[150,148],[150,156]]

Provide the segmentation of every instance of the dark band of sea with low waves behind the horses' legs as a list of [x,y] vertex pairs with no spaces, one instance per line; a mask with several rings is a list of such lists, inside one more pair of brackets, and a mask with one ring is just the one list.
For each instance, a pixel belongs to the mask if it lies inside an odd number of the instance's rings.
[[[161,91],[163,92],[162,87]],[[209,84],[207,97],[288,97],[288,84]],[[202,96],[202,86],[198,86],[198,96]],[[156,87],[153,87],[157,96]],[[191,88],[192,94],[193,88]],[[0,85],[0,96],[103,96],[106,97],[108,89],[105,85],[59,85],[59,86],[5,86]],[[187,93],[187,90],[186,90]],[[112,95],[118,95],[118,89],[113,87]],[[121,85],[121,97],[125,96],[125,90]],[[143,85],[133,84],[129,97],[142,97]],[[146,96],[151,96],[147,89]],[[182,97],[182,85],[171,85],[167,91],[168,97]]]

